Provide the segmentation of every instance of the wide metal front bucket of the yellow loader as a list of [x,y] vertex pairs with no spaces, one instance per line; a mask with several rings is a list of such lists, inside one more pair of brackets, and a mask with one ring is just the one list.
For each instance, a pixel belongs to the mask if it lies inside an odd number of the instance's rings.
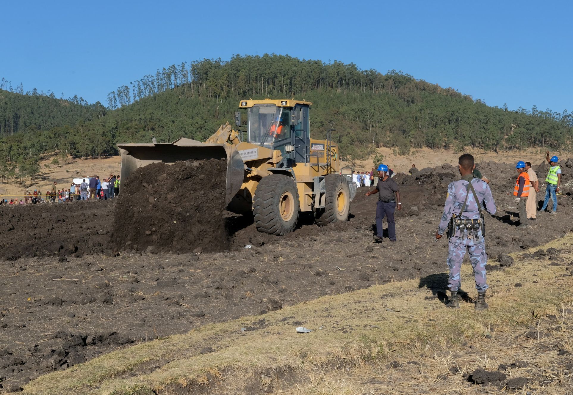
[[241,155],[232,144],[201,143],[191,139],[179,139],[161,144],[117,144],[121,153],[121,180],[138,167],[150,163],[173,164],[179,160],[227,159],[227,204],[237,194],[245,177],[245,165]]

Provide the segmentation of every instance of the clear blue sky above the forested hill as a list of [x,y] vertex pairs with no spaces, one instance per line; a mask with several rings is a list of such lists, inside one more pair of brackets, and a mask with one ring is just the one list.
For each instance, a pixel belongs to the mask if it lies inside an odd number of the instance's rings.
[[105,104],[171,64],[277,53],[402,70],[489,105],[571,111],[572,4],[3,2],[0,78]]

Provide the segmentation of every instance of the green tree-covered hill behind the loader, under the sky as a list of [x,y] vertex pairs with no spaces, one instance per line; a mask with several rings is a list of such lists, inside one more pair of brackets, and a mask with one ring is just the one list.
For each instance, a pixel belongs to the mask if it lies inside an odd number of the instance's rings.
[[382,74],[342,62],[235,56],[148,74],[109,93],[107,108],[0,91],[0,123],[20,114],[17,125],[12,121],[11,129],[0,129],[0,169],[3,161],[34,161],[54,151],[93,157],[116,153],[118,142],[202,140],[233,119],[241,98],[264,97],[312,101],[311,134],[336,129],[333,138],[346,157],[380,146],[401,152],[468,145],[559,148],[573,134],[573,116],[566,111],[490,107],[394,70]]

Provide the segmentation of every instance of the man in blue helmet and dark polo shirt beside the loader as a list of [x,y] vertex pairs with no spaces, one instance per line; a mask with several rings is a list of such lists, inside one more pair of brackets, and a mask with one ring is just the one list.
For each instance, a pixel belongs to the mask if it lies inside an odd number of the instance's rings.
[[388,166],[378,165],[378,185],[376,189],[366,192],[366,196],[378,192],[378,204],[376,204],[376,234],[374,240],[382,242],[382,220],[384,216],[388,221],[388,238],[391,242],[396,241],[396,223],[394,222],[394,210],[398,204],[398,210],[402,210],[398,184],[388,176]]

